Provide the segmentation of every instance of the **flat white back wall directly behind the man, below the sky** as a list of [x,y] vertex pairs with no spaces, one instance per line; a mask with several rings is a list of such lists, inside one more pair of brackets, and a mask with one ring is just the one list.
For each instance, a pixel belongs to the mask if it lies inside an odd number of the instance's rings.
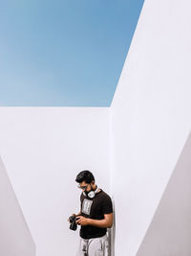
[[[109,190],[108,108],[0,107],[0,153],[32,231],[36,256],[74,255],[75,176],[89,169]],[[7,256],[7,255],[6,255]]]

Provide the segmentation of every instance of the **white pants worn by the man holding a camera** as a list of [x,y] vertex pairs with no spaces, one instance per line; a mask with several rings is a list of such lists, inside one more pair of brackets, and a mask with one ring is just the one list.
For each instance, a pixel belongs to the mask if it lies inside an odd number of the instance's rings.
[[108,246],[107,235],[93,239],[80,238],[76,256],[109,256]]

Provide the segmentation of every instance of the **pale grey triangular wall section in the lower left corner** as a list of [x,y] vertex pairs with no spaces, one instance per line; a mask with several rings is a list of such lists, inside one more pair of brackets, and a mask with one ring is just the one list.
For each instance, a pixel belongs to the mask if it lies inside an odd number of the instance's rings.
[[0,158],[0,255],[34,256],[32,235]]

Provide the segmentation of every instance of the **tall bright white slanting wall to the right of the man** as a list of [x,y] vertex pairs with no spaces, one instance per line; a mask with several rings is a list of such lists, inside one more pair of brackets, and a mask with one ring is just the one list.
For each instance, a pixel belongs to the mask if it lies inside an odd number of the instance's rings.
[[110,109],[117,256],[138,252],[191,129],[190,8],[188,0],[145,1],[117,85]]

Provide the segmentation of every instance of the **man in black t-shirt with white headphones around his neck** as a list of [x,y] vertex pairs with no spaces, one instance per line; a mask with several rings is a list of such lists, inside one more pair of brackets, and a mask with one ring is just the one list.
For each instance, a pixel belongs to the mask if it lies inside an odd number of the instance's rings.
[[80,228],[77,256],[108,256],[107,228],[113,225],[111,198],[96,186],[90,171],[82,171],[75,181],[82,190],[80,213],[76,223]]

